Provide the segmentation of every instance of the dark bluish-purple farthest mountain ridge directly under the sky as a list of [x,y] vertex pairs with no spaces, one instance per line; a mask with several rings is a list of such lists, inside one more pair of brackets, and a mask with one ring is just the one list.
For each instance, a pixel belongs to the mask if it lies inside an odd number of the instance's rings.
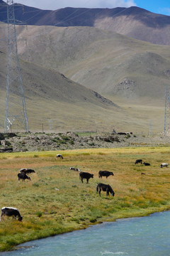
[[[6,4],[0,0],[0,21],[6,21]],[[153,14],[136,6],[114,9],[64,8],[40,10],[15,4],[16,22],[37,26],[91,26],[115,31],[150,43],[170,45],[170,16]]]

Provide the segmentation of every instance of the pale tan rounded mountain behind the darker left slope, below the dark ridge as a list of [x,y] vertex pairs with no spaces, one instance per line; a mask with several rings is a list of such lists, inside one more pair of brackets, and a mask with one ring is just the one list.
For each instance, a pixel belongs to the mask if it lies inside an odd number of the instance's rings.
[[89,27],[19,26],[18,35],[21,58],[107,97],[162,98],[169,84],[169,46]]

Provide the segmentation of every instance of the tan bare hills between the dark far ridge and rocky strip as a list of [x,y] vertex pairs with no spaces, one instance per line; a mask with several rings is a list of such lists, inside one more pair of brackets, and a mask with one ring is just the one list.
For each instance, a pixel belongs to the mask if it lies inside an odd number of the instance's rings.
[[[0,26],[3,38],[5,26]],[[43,127],[46,132],[51,129],[55,132],[96,129],[111,132],[113,128],[146,132],[149,120],[152,120],[153,132],[164,129],[164,89],[169,84],[170,74],[169,46],[156,46],[90,27],[28,26],[26,29],[26,26],[17,26],[17,34],[18,52],[25,60],[21,61],[21,68],[31,131],[37,132]],[[4,81],[0,95],[1,127],[4,125],[6,95],[5,48],[6,42],[1,41],[0,76]],[[78,94],[79,100],[74,96],[74,93],[77,95],[77,85],[72,86],[74,90],[69,97],[69,80],[57,71],[86,83],[87,87],[96,88],[97,92],[103,91],[102,94],[109,98],[114,97],[113,102],[118,102],[121,108],[98,101],[98,97],[92,95],[86,100],[82,90],[82,94]],[[56,87],[57,74],[64,83],[67,81],[67,90],[63,93],[62,85],[58,90]],[[57,97],[60,92],[62,100]],[[130,103],[126,104],[128,97]],[[13,126],[13,129],[17,127]]]

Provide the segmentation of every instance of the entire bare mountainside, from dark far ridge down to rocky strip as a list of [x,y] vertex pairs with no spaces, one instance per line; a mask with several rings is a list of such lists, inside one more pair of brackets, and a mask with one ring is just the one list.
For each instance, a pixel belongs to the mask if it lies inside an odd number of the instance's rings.
[[[0,13],[4,8],[0,5]],[[152,132],[163,131],[164,92],[170,78],[169,16],[137,7],[40,11],[24,6],[21,13],[21,6],[16,5],[15,10],[16,19],[32,22],[16,26],[31,131],[42,129],[42,124],[46,131],[56,132],[115,128],[148,133],[150,124]],[[32,11],[40,13],[33,18]],[[60,22],[74,11],[77,17],[72,17],[72,23]],[[5,23],[0,31],[5,38]],[[141,38],[137,31],[142,31]],[[3,129],[4,41],[0,50]]]

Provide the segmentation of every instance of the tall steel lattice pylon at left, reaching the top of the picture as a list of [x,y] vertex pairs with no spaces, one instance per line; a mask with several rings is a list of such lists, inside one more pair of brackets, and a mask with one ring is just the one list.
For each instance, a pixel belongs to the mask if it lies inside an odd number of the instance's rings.
[[7,0],[8,18],[8,68],[6,83],[6,116],[5,132],[15,124],[17,130],[29,132],[26,101],[23,91],[23,80],[18,58],[16,21],[13,0]]

